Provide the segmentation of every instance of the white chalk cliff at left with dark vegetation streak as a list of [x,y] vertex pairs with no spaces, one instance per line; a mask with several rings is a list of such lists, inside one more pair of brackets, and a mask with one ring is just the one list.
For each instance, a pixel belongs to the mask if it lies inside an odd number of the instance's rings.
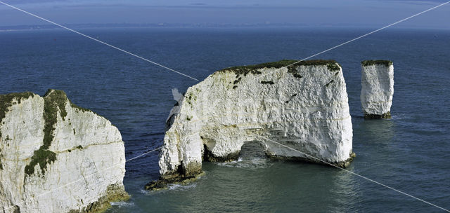
[[96,212],[127,199],[124,142],[61,90],[0,95],[0,212]]

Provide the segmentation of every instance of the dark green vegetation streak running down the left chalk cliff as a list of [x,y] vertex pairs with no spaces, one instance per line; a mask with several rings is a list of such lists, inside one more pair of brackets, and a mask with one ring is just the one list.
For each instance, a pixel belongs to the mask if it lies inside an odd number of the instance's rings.
[[56,153],[50,151],[49,147],[51,141],[53,141],[53,132],[58,121],[58,111],[60,111],[60,116],[63,120],[68,115],[65,110],[67,102],[68,97],[63,90],[48,90],[44,95],[44,144],[37,151],[34,151],[31,162],[25,166],[25,174],[33,174],[34,167],[39,164],[41,174],[44,175],[47,164],[56,160]]

